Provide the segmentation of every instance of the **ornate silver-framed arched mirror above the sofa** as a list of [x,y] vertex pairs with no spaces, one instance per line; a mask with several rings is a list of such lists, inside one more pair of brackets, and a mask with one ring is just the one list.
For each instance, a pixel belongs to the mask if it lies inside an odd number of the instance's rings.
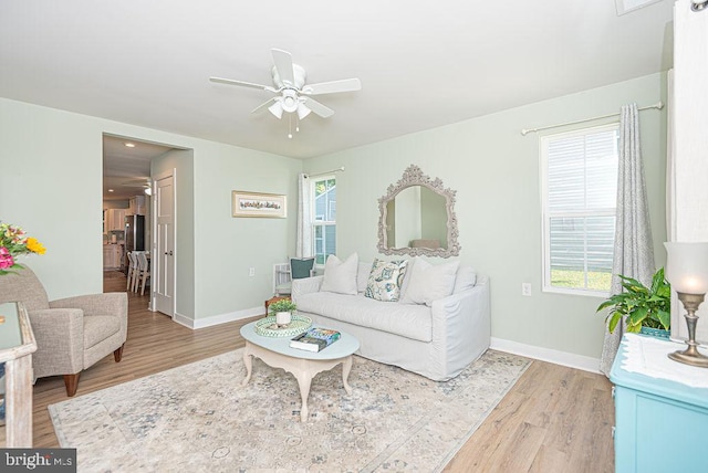
[[396,185],[378,199],[378,251],[449,257],[460,253],[457,242],[455,191],[419,167],[408,166]]

